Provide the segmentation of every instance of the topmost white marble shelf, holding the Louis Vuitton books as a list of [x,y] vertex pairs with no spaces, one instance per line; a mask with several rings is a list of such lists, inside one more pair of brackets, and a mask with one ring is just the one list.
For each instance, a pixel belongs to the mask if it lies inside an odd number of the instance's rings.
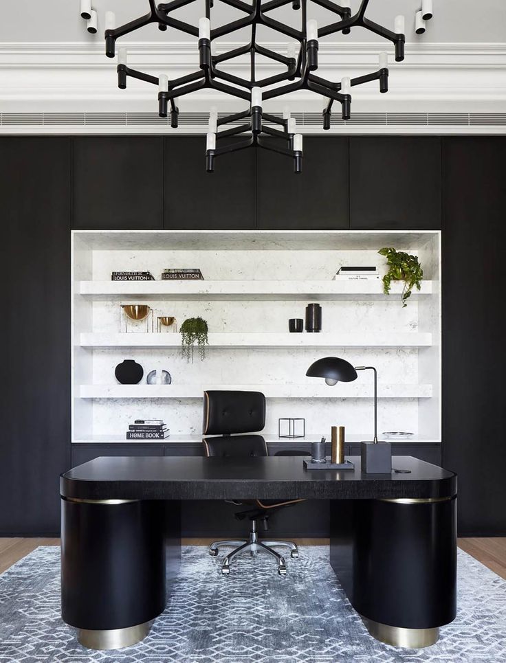
[[[393,283],[399,295],[402,283]],[[78,281],[75,292],[93,299],[137,297],[140,300],[333,300],[388,297],[381,280],[370,281]],[[431,295],[437,282],[423,281],[412,295]]]

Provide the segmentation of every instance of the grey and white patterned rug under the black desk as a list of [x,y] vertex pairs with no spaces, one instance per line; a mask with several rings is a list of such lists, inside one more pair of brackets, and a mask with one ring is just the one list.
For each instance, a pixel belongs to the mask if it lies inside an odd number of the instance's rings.
[[134,647],[89,651],[60,618],[58,548],[37,548],[0,576],[2,663],[500,663],[506,581],[459,550],[459,614],[427,649],[373,640],[340,589],[328,548],[304,547],[278,576],[268,557],[240,557],[230,576],[206,548],[184,548],[164,614]]

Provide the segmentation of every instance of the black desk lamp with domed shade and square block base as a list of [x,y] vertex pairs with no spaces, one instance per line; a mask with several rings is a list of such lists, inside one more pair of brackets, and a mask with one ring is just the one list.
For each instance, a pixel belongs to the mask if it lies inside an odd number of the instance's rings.
[[392,448],[390,442],[377,441],[377,372],[374,366],[351,366],[349,361],[340,357],[317,359],[306,371],[308,377],[325,378],[329,386],[338,382],[353,382],[358,378],[358,370],[374,372],[374,439],[373,442],[361,442],[360,456],[362,471],[369,474],[384,474],[392,471]]

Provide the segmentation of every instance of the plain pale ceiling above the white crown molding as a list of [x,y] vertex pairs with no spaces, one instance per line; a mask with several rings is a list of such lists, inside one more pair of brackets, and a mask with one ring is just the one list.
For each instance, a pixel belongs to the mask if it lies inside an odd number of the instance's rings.
[[[414,17],[421,0],[371,0],[367,16],[386,27],[393,27],[396,14],[406,16],[406,40],[408,43],[504,43],[506,41],[506,0],[433,0],[434,18],[427,23],[426,34],[415,34]],[[352,0],[352,8],[358,8],[360,0]],[[79,15],[79,0],[23,0],[23,2],[3,0],[0,20],[0,43],[41,43],[66,42],[98,45],[103,42],[102,30],[104,12],[115,12],[118,24],[126,23],[147,12],[147,0],[93,0],[98,10],[99,32],[89,34],[85,21]],[[203,0],[195,0],[177,15],[194,25],[203,14]],[[309,16],[314,16],[321,24],[329,23],[332,14],[309,2]],[[228,6],[215,1],[212,14],[214,26],[230,21],[230,16],[243,15]],[[291,5],[283,7],[272,16],[298,24],[300,11],[294,12]],[[295,21],[295,23],[294,23]],[[276,33],[264,32],[260,38],[268,42],[285,41]],[[155,25],[124,37],[126,41],[170,43],[192,41],[195,37],[175,30],[160,32]],[[228,36],[229,41],[239,41],[236,36]],[[332,35],[331,42],[375,42],[381,38],[362,29],[352,30],[349,35]]]

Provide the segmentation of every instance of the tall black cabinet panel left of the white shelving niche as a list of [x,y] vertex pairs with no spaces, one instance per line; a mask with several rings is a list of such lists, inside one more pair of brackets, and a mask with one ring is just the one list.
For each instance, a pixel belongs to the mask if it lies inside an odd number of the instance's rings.
[[3,137],[0,153],[0,536],[55,536],[70,466],[70,139]]

